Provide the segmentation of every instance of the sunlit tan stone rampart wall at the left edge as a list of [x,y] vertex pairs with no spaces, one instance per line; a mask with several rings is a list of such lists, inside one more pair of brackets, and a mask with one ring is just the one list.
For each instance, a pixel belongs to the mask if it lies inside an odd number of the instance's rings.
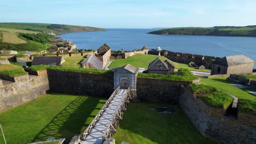
[[49,90],[47,76],[32,76],[21,82],[0,86],[0,111],[40,97]]

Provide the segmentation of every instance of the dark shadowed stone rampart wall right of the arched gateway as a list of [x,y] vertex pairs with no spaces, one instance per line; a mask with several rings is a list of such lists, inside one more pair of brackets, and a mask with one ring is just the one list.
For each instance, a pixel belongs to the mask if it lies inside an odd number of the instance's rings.
[[137,77],[137,98],[142,101],[178,103],[181,85],[191,82]]

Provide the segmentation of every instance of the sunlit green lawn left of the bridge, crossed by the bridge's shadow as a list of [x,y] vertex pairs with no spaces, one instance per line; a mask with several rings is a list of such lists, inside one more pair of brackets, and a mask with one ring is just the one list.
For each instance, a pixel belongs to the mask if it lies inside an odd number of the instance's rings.
[[105,99],[97,97],[51,93],[0,113],[0,123],[9,144],[49,137],[70,141],[86,129],[104,103]]

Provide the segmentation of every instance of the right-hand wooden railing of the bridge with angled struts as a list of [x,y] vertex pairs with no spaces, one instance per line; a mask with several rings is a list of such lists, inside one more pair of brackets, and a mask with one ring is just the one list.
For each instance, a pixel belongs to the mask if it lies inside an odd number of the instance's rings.
[[118,106],[117,111],[115,112],[114,117],[112,118],[111,122],[108,125],[107,130],[103,134],[103,140],[106,141],[108,137],[111,137],[111,132],[116,131],[114,127],[117,126],[118,120],[122,119],[122,110],[126,110],[126,103],[129,103],[129,99],[131,98],[130,95],[130,87],[127,89],[127,92],[125,93],[125,97],[123,101],[121,101],[120,105]]

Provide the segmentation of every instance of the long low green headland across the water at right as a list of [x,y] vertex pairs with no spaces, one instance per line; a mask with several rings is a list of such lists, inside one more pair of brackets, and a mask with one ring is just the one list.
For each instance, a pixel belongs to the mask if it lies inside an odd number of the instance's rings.
[[256,37],[256,26],[216,26],[216,27],[178,27],[160,29],[149,32],[149,34],[169,34],[169,35],[216,35],[234,37]]

